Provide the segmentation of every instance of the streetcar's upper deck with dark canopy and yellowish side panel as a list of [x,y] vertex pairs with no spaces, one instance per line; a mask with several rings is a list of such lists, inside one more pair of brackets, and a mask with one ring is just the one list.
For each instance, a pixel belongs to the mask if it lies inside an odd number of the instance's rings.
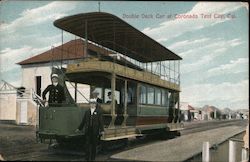
[[[84,64],[69,65],[67,72],[94,72],[93,69],[110,72],[114,66],[114,70],[121,70],[116,71],[118,75],[180,91],[182,58],[117,16],[104,12],[82,13],[58,19],[54,25],[110,51],[110,54],[95,54],[98,63],[89,62],[86,66],[87,59]],[[86,53],[91,52],[86,49]],[[99,67],[104,64],[107,67]],[[123,74],[124,68],[133,76]]]

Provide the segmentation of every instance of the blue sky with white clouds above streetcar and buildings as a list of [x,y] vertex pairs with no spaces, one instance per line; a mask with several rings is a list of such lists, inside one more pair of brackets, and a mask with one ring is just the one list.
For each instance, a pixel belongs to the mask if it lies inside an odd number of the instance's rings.
[[[98,11],[97,1],[0,2],[0,79],[20,86],[21,68],[15,63],[61,44],[61,30],[53,21],[93,11]],[[101,1],[101,11],[120,17],[183,58],[182,102],[249,108],[248,4]],[[124,17],[131,14],[139,17]],[[65,34],[64,41],[74,38]]]

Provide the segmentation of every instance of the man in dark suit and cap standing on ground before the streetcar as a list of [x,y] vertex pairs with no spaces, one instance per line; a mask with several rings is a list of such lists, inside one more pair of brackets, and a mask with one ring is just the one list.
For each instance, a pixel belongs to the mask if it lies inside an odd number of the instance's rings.
[[95,160],[99,137],[104,134],[102,112],[99,106],[97,106],[96,99],[90,99],[90,109],[85,112],[76,132],[83,128],[86,140],[86,160]]

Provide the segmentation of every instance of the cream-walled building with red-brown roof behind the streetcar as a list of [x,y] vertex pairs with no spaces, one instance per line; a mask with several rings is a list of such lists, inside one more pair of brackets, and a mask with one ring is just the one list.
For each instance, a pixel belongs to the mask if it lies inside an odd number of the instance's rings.
[[[84,44],[85,42],[81,39],[71,40],[17,63],[22,67],[21,85],[25,87],[25,95],[17,96],[17,90],[13,87],[10,89],[2,88],[0,90],[0,120],[35,125],[37,105],[32,100],[32,91],[39,96],[42,95],[44,89],[51,84],[52,67],[60,67],[61,65],[67,67],[67,64],[76,63],[86,57]],[[88,43],[88,54],[108,55],[110,53],[112,53],[110,50]],[[74,87],[71,86],[68,89],[71,95],[74,95]],[[87,98],[89,97],[89,86],[79,84],[78,89]],[[77,102],[86,102],[86,99],[77,95]]]

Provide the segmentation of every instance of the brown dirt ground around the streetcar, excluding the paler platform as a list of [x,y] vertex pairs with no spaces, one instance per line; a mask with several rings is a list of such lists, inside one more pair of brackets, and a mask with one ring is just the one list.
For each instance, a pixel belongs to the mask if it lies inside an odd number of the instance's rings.
[[[246,121],[212,121],[187,123],[186,129],[181,131],[182,136],[194,132],[201,132],[209,129],[238,125],[246,125]],[[48,149],[48,144],[36,141],[36,128],[34,126],[20,126],[15,124],[5,124],[0,122],[0,155],[4,160],[10,161],[84,161],[84,154],[71,153],[71,150]],[[97,161],[110,161],[110,156],[124,150],[155,143],[159,139],[142,138],[129,141],[128,146],[120,149],[100,152]],[[0,157],[1,158],[1,157]],[[1,161],[1,160],[0,160]]]

